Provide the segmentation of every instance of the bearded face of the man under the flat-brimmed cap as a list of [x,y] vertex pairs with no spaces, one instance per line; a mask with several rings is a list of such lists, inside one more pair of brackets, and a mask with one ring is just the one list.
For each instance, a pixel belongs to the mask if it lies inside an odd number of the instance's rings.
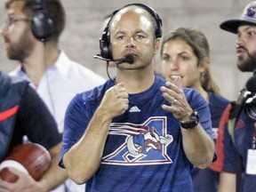
[[243,72],[256,69],[256,26],[244,25],[237,30],[237,68]]

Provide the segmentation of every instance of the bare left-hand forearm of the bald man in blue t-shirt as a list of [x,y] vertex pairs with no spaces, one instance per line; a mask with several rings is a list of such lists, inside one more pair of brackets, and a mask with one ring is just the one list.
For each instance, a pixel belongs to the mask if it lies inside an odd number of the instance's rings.
[[82,184],[99,169],[111,120],[97,110],[82,138],[63,156],[71,180]]

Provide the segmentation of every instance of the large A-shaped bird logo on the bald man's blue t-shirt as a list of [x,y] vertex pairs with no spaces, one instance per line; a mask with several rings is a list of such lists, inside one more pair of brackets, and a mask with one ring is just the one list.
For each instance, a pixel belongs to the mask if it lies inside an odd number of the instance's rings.
[[165,117],[151,117],[144,124],[112,123],[108,135],[122,137],[124,141],[103,156],[102,164],[172,163],[166,148],[173,138],[167,134]]

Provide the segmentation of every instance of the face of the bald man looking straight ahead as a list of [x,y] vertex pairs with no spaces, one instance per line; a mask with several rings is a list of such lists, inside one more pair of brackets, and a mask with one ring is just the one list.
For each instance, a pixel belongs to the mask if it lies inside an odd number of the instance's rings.
[[124,58],[128,54],[134,56],[132,65],[118,65],[118,68],[126,69],[143,68],[151,64],[159,46],[148,12],[137,7],[127,7],[116,13],[110,26],[110,42],[114,59]]

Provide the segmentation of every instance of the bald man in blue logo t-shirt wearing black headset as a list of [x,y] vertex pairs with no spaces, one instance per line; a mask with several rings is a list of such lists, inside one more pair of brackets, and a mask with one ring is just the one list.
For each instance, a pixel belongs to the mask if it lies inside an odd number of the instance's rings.
[[88,191],[192,192],[192,164],[212,162],[206,101],[154,75],[161,25],[145,4],[114,12],[100,56],[118,63],[116,78],[68,105],[60,166]]

